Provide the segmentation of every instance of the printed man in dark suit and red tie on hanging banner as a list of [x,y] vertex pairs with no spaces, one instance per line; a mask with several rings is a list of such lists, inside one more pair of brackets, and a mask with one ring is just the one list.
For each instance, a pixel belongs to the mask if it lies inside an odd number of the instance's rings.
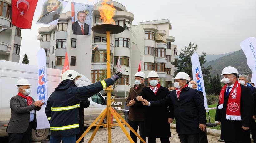
[[79,11],[77,13],[77,21],[72,24],[72,31],[74,35],[88,35],[89,25],[84,23],[86,20],[86,12]]

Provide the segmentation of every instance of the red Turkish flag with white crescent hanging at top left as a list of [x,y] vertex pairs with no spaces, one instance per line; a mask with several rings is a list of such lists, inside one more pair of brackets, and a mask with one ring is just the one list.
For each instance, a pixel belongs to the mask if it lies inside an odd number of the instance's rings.
[[12,0],[12,24],[30,29],[38,0]]

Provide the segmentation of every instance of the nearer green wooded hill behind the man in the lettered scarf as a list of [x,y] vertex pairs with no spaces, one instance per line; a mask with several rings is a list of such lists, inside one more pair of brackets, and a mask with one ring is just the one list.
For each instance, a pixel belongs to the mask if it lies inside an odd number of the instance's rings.
[[240,70],[250,70],[248,65],[246,64],[246,56],[242,50],[235,51],[226,56],[220,57],[216,60],[209,61],[205,63],[203,66],[207,67],[208,65],[212,66],[212,70],[210,71],[212,75],[222,73],[222,69],[227,66],[233,66],[236,69]]

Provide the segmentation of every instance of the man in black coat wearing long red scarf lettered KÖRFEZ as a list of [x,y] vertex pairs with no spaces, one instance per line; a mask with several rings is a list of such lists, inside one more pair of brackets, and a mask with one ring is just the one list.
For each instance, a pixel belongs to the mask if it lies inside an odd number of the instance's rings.
[[250,130],[253,116],[251,90],[237,81],[238,71],[234,67],[222,70],[225,83],[219,95],[215,120],[221,124],[220,139],[226,143],[251,142]]

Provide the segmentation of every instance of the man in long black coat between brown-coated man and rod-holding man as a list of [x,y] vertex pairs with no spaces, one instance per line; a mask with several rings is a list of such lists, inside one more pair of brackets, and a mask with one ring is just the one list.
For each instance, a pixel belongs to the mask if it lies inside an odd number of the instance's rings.
[[[148,101],[157,101],[165,98],[170,93],[168,88],[158,83],[159,76],[155,71],[150,71],[147,77],[150,86],[142,89],[140,97]],[[138,99],[135,101],[143,102],[143,100]],[[172,102],[157,107],[145,106],[145,133],[148,142],[155,143],[156,138],[160,138],[161,142],[169,143],[169,137],[171,137],[170,123],[172,123],[173,118]]]

